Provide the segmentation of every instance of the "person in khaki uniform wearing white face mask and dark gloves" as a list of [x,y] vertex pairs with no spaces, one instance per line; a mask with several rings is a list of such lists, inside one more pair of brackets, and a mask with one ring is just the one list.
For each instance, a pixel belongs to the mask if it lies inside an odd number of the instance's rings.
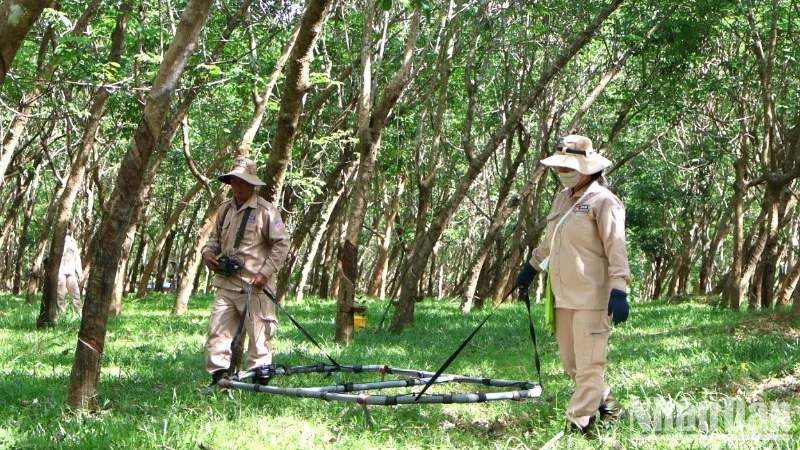
[[553,200],[545,237],[516,285],[527,293],[538,272],[549,272],[554,318],[549,331],[555,332],[564,370],[575,382],[567,421],[586,434],[598,411],[607,422],[625,413],[604,381],[610,322],[624,322],[630,310],[625,209],[603,178],[611,161],[589,138],[564,137],[541,163],[558,171],[565,189]]

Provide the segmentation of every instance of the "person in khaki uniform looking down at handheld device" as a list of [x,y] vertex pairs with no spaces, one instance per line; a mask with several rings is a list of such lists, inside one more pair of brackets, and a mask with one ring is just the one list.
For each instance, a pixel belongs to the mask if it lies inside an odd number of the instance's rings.
[[275,304],[263,290],[275,292],[276,274],[289,252],[289,236],[278,209],[255,193],[256,186],[265,185],[256,174],[256,164],[238,158],[231,171],[217,179],[230,184],[233,198],[219,207],[201,250],[203,262],[216,273],[217,293],[205,346],[212,388],[228,375],[231,343],[241,321],[249,337],[247,369],[272,363],[278,319]]

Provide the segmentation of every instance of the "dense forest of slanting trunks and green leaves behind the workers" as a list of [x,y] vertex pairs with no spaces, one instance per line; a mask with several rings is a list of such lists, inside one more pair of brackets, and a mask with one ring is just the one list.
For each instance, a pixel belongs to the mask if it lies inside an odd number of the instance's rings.
[[[578,133],[614,162],[631,298],[800,312],[795,1],[311,0],[0,4],[0,291],[53,297],[78,228],[68,403],[96,406],[125,295],[209,290],[197,251],[258,161],[292,249],[281,302],[508,300]],[[541,289],[541,287],[539,287]],[[37,294],[42,293],[41,297]],[[390,303],[391,302],[391,303]]]

